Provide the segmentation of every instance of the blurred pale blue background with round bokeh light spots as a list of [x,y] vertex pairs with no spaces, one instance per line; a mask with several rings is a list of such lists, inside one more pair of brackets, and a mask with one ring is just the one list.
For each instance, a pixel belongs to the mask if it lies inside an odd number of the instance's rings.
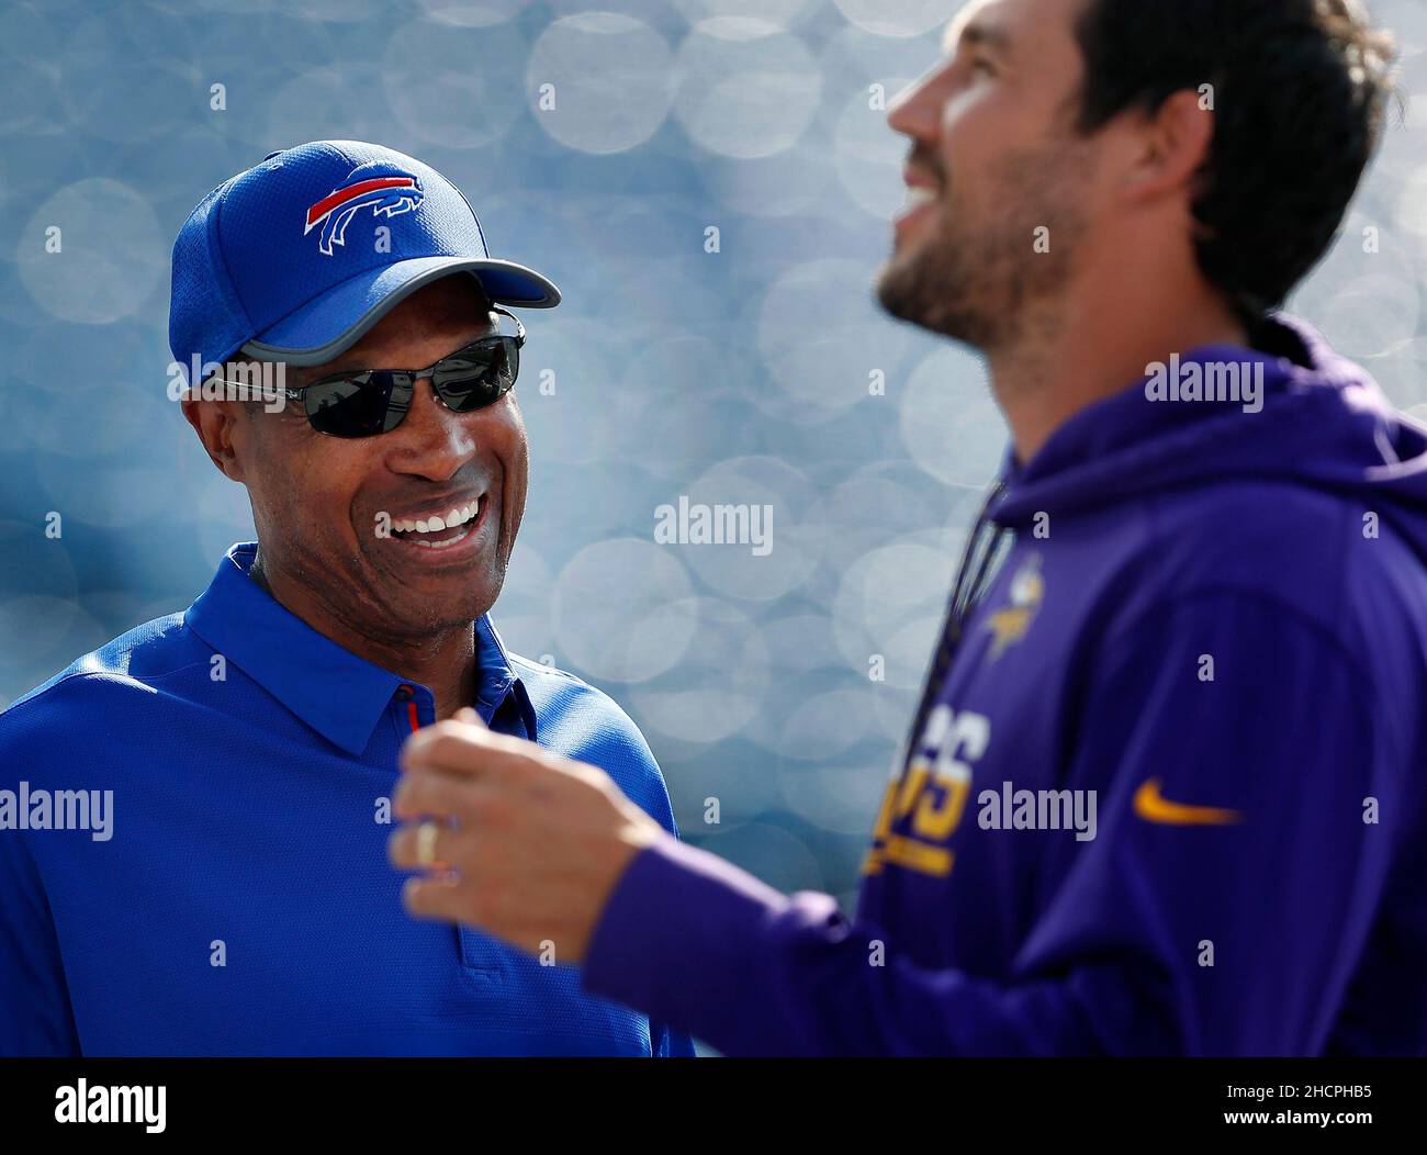
[[[494,614],[507,641],[629,711],[691,841],[848,901],[1005,444],[979,363],[870,293],[905,156],[870,86],[890,99],[929,67],[956,7],[0,7],[0,698],[184,608],[253,538],[245,493],[166,395],[173,237],[274,148],[374,140],[450,176],[494,254],[565,294],[524,318],[532,478]],[[1401,40],[1406,123],[1294,307],[1421,411],[1427,4],[1374,13]],[[772,553],[655,544],[655,507],[681,494],[771,504]]]

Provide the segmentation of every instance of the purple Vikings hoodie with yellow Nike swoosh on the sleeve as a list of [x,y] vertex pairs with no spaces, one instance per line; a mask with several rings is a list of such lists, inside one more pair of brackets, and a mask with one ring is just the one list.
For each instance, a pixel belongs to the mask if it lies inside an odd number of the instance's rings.
[[726,1054],[1423,1054],[1427,431],[1254,346],[1007,464],[855,921],[665,839],[586,988]]

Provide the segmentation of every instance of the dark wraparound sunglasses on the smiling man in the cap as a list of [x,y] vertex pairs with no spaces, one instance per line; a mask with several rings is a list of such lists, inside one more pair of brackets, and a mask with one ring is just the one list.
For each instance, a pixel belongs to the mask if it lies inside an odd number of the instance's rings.
[[515,321],[514,337],[481,337],[427,368],[348,370],[281,393],[290,401],[301,401],[313,428],[328,437],[391,433],[411,408],[422,377],[431,378],[441,404],[452,413],[494,405],[515,387],[525,326],[514,313],[499,307],[492,311]]

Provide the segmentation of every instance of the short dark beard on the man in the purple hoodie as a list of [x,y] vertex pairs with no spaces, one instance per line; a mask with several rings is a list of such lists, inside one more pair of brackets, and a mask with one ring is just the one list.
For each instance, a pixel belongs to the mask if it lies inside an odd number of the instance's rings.
[[997,161],[987,220],[955,211],[943,196],[932,233],[883,266],[882,307],[983,353],[1015,346],[1029,307],[1062,296],[1076,267],[1089,171],[1089,147],[1067,141]]

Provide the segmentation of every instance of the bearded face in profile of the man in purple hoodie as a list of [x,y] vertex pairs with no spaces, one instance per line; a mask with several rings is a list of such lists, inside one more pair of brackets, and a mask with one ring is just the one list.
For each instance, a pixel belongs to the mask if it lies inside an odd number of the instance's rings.
[[1083,7],[972,0],[946,57],[888,113],[910,141],[908,207],[878,283],[893,316],[993,350],[1015,340],[1027,300],[1063,290],[1099,210],[1095,143],[1069,103],[1085,74]]

